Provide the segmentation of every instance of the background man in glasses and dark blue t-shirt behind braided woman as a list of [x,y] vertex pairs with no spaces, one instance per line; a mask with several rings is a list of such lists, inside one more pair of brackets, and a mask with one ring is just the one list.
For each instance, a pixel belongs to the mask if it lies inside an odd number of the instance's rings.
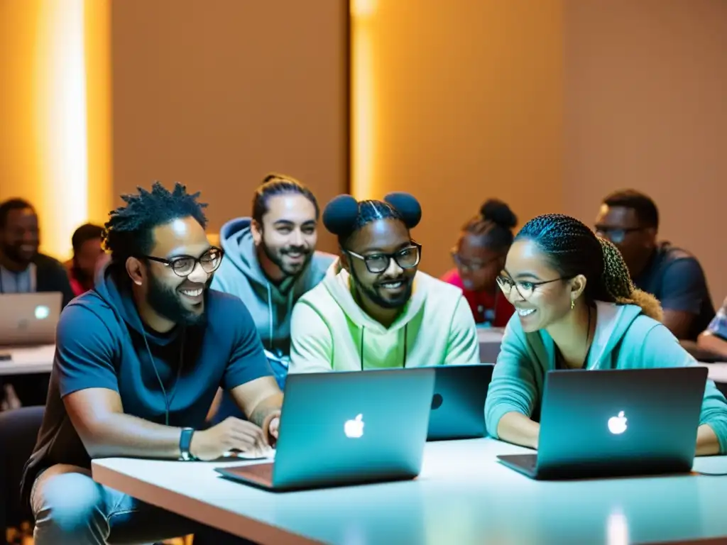
[[715,315],[707,279],[688,251],[657,241],[654,201],[635,190],[611,193],[603,199],[595,230],[621,251],[636,287],[662,303],[664,326],[680,340],[695,341]]

